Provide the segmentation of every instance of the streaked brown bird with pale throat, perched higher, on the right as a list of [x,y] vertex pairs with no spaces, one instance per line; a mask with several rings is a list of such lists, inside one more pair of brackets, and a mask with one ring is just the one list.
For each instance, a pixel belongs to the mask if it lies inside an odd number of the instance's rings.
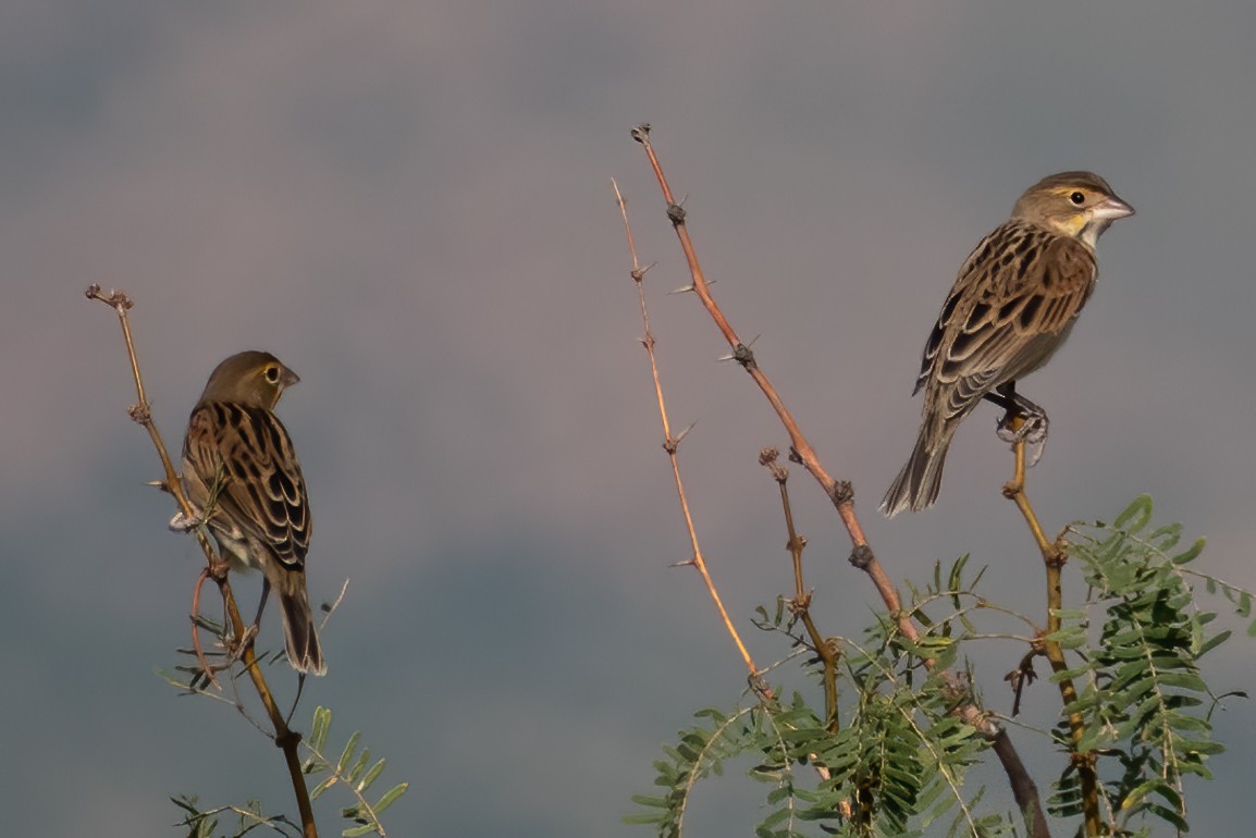
[[1095,286],[1095,242],[1133,214],[1098,175],[1051,175],[968,255],[924,344],[912,391],[924,391],[924,416],[912,456],[880,501],[885,515],[933,505],[951,438],[981,400],[1036,411],[1045,433],[1045,415],[1016,395],[1015,383],[1069,337]]

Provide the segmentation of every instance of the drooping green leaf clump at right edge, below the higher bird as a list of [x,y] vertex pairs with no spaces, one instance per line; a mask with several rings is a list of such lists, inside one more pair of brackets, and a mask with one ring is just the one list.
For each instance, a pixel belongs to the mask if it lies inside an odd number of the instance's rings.
[[[1226,590],[1242,617],[1250,596],[1194,572],[1203,539],[1181,549],[1181,524],[1153,526],[1145,495],[1110,526],[1070,530],[1069,555],[1090,585],[1085,608],[1061,614],[1059,633],[1080,660],[1064,673],[1079,685],[1065,707],[1085,721],[1078,749],[1104,755],[1102,792],[1117,828],[1154,817],[1186,832],[1182,780],[1211,779],[1206,761],[1223,750],[1210,722],[1222,696],[1203,681],[1198,662],[1231,636],[1210,629],[1217,614],[1199,608],[1192,583]],[[1068,741],[1063,731],[1058,736]],[[1071,815],[1079,805],[1078,774],[1069,768],[1053,808]]]

